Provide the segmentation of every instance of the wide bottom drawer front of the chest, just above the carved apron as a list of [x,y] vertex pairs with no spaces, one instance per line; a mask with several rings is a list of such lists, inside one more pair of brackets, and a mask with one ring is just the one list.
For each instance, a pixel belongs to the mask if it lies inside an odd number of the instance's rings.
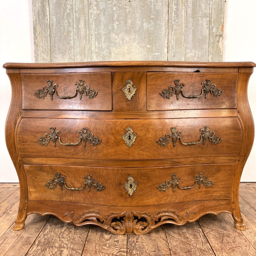
[[206,198],[231,200],[235,170],[235,164],[156,168],[24,167],[29,200],[115,206],[168,204]]

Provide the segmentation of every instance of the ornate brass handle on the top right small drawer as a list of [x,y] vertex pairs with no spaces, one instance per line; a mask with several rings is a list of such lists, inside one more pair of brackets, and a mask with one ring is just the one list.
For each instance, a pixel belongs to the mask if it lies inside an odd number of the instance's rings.
[[168,89],[164,89],[162,91],[162,93],[160,93],[160,95],[164,98],[164,99],[170,99],[170,97],[175,94],[176,95],[176,99],[179,100],[179,95],[181,93],[181,95],[184,98],[188,98],[188,99],[195,99],[195,98],[199,98],[204,94],[204,98],[206,99],[208,96],[208,93],[211,93],[213,95],[213,97],[219,97],[223,94],[223,90],[216,88],[215,84],[210,84],[209,79],[206,79],[206,82],[202,82],[201,84],[203,85],[202,91],[200,95],[188,95],[186,96],[183,93],[182,88],[185,86],[185,84],[181,83],[180,84],[180,79],[175,79],[174,80],[174,84],[175,86],[169,86]]

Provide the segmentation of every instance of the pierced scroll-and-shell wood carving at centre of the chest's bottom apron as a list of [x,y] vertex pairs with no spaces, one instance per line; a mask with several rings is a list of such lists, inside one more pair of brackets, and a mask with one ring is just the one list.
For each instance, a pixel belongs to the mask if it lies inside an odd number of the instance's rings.
[[175,211],[159,211],[155,215],[148,212],[110,212],[103,217],[100,212],[88,211],[76,216],[74,212],[67,212],[64,217],[71,218],[77,226],[94,224],[117,235],[142,235],[166,223],[185,224],[196,212],[186,212],[181,217]]

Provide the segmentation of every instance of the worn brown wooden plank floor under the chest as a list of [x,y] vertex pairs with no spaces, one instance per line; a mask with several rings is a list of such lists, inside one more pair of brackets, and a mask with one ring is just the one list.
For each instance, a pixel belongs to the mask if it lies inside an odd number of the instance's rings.
[[181,227],[166,224],[142,236],[117,236],[36,214],[28,216],[25,229],[13,231],[19,184],[0,183],[0,256],[256,256],[256,183],[241,183],[239,192],[244,231],[223,213]]

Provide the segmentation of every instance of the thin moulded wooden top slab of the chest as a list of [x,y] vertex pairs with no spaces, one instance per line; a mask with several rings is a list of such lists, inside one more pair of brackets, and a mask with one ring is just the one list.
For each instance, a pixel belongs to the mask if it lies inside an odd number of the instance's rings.
[[254,62],[189,62],[189,61],[94,61],[69,63],[6,63],[4,68],[68,68],[115,66],[163,66],[163,67],[256,67]]

